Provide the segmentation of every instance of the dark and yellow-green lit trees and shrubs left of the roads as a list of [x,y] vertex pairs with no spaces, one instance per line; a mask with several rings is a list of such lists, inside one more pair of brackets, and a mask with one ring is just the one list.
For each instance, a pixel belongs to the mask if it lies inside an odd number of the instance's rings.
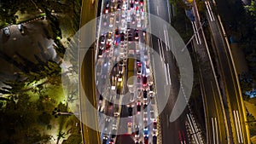
[[[61,60],[71,37],[79,30],[81,1],[16,0],[0,2],[0,27],[18,24],[42,14],[49,23],[48,38],[55,41],[59,60],[36,61],[1,54],[17,67],[15,79],[0,88],[0,144],[81,143],[79,119],[70,112],[61,85]],[[42,54],[43,55],[43,54]],[[66,73],[68,74],[68,73]],[[72,96],[76,96],[74,94]]]

